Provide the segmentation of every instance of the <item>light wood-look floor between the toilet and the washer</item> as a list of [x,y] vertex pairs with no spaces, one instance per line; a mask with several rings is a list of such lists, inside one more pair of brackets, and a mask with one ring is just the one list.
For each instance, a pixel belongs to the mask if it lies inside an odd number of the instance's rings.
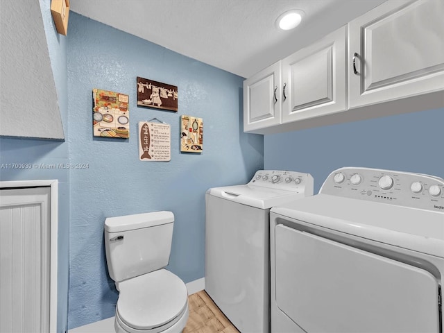
[[189,296],[189,318],[183,333],[239,333],[205,290]]

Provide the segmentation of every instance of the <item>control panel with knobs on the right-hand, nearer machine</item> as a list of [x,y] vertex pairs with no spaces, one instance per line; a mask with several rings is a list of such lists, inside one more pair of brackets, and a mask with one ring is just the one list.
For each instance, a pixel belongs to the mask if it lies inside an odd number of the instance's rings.
[[444,212],[444,180],[420,173],[341,168],[330,173],[321,193]]

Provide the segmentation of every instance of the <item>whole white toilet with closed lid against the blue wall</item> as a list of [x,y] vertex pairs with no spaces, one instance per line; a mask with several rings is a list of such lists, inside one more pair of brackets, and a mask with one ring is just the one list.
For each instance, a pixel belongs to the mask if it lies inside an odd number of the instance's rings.
[[188,319],[188,292],[164,269],[173,238],[172,212],[109,217],[105,251],[116,282],[116,332],[179,333]]

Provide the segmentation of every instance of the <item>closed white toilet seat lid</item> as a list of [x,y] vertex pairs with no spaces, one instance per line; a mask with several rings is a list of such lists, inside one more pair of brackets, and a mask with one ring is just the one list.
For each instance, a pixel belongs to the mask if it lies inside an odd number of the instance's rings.
[[166,269],[123,281],[119,289],[119,318],[137,330],[165,325],[187,306],[185,283]]

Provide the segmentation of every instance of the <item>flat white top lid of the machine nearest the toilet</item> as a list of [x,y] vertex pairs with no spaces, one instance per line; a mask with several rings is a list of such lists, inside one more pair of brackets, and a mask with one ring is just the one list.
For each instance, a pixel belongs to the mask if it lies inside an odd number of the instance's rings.
[[299,193],[298,191],[285,191],[283,189],[272,189],[254,185],[214,187],[208,189],[207,194],[262,209],[288,203],[291,200],[305,196],[304,193]]

